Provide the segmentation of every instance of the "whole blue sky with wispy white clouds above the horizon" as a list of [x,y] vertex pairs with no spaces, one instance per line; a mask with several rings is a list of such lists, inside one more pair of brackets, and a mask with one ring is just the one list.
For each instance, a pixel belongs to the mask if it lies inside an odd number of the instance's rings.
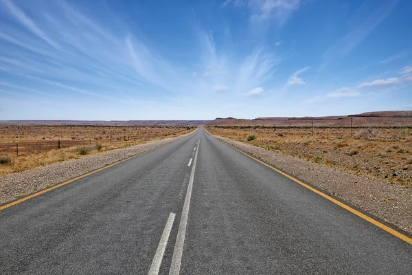
[[412,1],[0,0],[0,120],[412,109]]

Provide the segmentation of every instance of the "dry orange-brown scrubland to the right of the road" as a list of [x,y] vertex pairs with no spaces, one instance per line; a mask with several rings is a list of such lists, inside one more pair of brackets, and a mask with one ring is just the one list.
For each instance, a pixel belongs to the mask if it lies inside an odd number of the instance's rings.
[[[411,128],[207,127],[216,135],[412,188]],[[312,132],[313,131],[313,132]],[[255,135],[255,140],[247,140]]]

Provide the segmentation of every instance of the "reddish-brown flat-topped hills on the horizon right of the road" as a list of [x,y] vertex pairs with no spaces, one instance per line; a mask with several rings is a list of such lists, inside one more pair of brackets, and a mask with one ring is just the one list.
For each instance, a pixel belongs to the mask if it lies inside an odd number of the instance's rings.
[[376,111],[323,117],[273,117],[253,120],[216,118],[206,126],[412,126],[412,111]]

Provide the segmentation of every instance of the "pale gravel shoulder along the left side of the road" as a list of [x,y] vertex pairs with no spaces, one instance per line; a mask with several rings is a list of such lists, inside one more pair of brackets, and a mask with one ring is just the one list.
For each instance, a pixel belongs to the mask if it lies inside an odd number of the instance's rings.
[[122,159],[139,153],[144,153],[152,148],[163,146],[192,133],[87,155],[80,159],[70,159],[65,162],[34,168],[33,170],[25,170],[20,173],[0,176],[0,205],[89,173],[108,164],[119,162]]

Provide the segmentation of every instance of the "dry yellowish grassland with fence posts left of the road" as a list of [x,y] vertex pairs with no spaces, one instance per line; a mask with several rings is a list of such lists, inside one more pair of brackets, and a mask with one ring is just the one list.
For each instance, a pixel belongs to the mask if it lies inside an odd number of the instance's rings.
[[[9,142],[36,142],[51,140],[82,140],[84,146],[51,151],[0,152],[10,157],[8,164],[0,165],[0,175],[21,172],[54,162],[77,159],[84,155],[124,148],[152,140],[175,137],[193,131],[186,126],[20,126],[0,124],[0,147]],[[133,137],[133,138],[130,138]]]

